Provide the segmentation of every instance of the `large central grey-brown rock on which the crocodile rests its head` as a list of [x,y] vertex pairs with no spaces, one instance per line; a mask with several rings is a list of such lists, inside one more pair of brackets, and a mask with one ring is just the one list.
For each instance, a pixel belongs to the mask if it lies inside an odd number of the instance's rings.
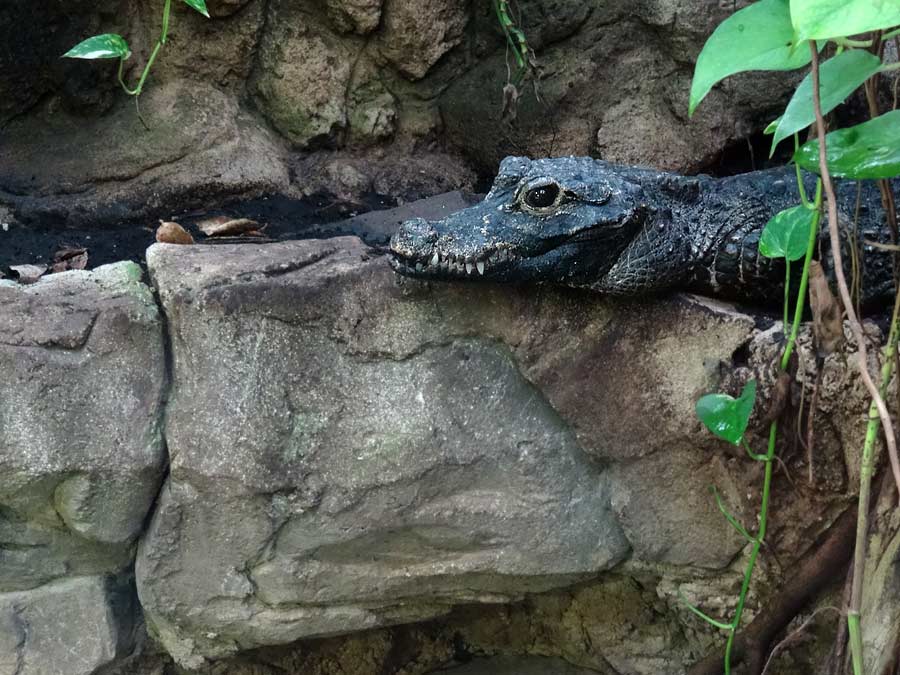
[[[174,381],[138,587],[185,665],[508,601],[630,546],[721,567],[743,545],[688,494],[737,491],[692,406],[752,332],[743,315],[398,284],[349,237],[156,245],[148,264]],[[678,508],[640,526],[666,470],[685,479]]]

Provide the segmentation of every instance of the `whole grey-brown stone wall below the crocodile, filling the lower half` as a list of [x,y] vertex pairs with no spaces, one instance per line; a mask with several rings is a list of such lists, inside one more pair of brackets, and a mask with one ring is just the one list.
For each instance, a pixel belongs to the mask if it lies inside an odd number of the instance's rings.
[[[771,319],[401,282],[353,237],[147,258],[152,290],[130,263],[0,282],[0,672],[674,675],[721,639],[679,596],[733,606],[746,547],[709,488],[751,522],[760,467],[693,405],[750,376],[766,399]],[[806,332],[800,356],[809,383]],[[852,502],[849,356],[824,366],[814,487],[781,450],[751,616]]]

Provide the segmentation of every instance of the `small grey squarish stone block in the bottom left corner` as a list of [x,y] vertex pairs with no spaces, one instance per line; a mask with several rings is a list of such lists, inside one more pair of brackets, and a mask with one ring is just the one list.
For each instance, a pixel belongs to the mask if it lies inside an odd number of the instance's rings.
[[129,609],[102,577],[0,593],[0,675],[92,675],[127,647]]

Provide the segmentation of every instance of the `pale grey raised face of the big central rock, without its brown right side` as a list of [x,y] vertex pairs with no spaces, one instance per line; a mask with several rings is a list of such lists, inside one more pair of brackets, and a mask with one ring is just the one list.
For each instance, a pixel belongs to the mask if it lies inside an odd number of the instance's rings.
[[148,253],[176,375],[138,574],[176,657],[426,618],[622,559],[600,467],[507,348],[417,334],[409,302],[372,312],[393,278],[358,240],[250,252]]

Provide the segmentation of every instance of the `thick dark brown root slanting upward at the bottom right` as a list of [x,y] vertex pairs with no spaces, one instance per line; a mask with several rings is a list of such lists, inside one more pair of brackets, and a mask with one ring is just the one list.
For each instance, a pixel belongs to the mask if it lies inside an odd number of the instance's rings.
[[[758,675],[766,660],[772,640],[809,600],[838,577],[838,573],[853,551],[853,532],[856,514],[852,508],[844,511],[820,538],[812,553],[799,563],[794,575],[785,582],[769,604],[735,640],[732,665],[744,662],[751,675]],[[695,663],[688,675],[721,675],[724,651],[716,650]]]

